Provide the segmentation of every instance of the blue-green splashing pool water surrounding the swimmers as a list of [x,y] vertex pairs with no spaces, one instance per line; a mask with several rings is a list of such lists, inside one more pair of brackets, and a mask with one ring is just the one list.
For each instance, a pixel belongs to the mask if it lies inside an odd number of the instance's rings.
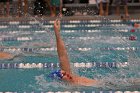
[[[4,47],[1,51],[9,52],[16,57],[11,60],[0,60],[1,64],[18,64],[19,67],[21,63],[47,63],[50,66],[20,69],[1,66],[5,69],[0,69],[0,91],[90,93],[100,90],[140,90],[139,84],[126,81],[129,78],[140,78],[140,29],[132,26],[134,22],[140,23],[140,20],[62,21],[61,35],[67,46],[72,70],[81,76],[113,83],[101,87],[72,87],[47,77],[52,70],[59,68],[53,21],[2,21],[0,44]],[[84,66],[76,63],[83,63]],[[92,66],[85,67],[88,63]],[[109,65],[111,63],[115,66]]]

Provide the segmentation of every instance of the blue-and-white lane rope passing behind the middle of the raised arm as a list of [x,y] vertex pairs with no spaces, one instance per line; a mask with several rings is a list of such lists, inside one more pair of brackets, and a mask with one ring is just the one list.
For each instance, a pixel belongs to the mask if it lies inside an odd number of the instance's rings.
[[[99,48],[100,50],[108,50],[108,51],[112,51],[112,50],[118,50],[118,51],[122,51],[122,50],[126,50],[126,51],[135,51],[135,50],[139,50],[138,47],[105,47],[105,48]],[[24,48],[0,48],[0,51],[1,52],[46,52],[46,51],[56,51],[57,49],[55,47],[51,47],[51,48],[27,48],[27,47],[24,47]],[[75,49],[72,49],[72,48],[68,48],[68,50],[78,50],[78,51],[91,51],[91,50],[94,50],[94,48],[87,48],[87,47],[84,47],[84,48],[75,48]]]

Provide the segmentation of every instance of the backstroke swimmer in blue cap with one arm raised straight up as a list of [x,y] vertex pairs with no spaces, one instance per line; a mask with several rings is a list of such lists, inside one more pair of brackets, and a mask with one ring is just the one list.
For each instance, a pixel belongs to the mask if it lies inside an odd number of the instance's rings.
[[99,81],[87,77],[73,74],[70,68],[69,57],[65,44],[60,35],[60,21],[54,22],[54,32],[56,36],[57,53],[60,61],[60,70],[54,71],[50,74],[51,77],[57,77],[63,81],[69,82],[72,85],[78,86],[94,86],[98,85]]

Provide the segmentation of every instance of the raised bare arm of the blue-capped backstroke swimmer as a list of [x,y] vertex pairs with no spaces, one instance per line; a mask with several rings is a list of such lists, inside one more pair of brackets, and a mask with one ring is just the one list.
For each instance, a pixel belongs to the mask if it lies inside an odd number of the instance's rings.
[[54,31],[56,36],[57,53],[60,61],[60,68],[67,73],[71,73],[69,57],[65,48],[64,41],[60,34],[60,21],[54,21]]

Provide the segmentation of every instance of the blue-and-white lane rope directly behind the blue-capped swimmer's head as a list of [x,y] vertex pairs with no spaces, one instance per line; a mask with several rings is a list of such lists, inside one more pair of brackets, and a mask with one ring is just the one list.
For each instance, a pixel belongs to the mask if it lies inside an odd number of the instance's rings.
[[[72,63],[75,68],[119,68],[128,67],[128,62],[87,62]],[[58,68],[59,63],[0,63],[0,69]]]

